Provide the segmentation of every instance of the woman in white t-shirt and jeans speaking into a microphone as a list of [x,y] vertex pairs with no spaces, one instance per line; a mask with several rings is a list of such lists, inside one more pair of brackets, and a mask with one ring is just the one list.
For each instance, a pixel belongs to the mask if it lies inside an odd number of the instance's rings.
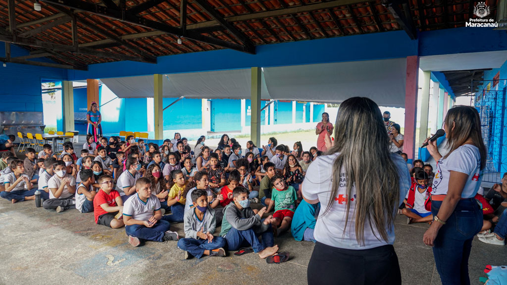
[[433,246],[443,285],[470,284],[468,257],[474,235],[483,225],[482,209],[474,197],[486,166],[486,146],[481,119],[473,107],[450,109],[444,129],[449,153],[442,156],[436,141],[429,141],[427,146],[438,163],[431,192],[433,223],[424,233],[423,241]]

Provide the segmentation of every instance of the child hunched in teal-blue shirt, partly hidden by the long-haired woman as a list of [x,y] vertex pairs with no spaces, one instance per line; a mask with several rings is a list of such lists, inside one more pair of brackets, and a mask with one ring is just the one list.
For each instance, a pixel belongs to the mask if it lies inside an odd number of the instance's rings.
[[295,240],[315,242],[313,231],[317,222],[320,203],[310,204],[303,200],[296,208],[291,224],[291,233]]

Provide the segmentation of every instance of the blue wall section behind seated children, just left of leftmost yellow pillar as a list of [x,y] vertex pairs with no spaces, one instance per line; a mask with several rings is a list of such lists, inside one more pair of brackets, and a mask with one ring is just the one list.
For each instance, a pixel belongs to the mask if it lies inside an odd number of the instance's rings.
[[146,111],[146,98],[126,98],[125,130],[132,132],[146,132],[148,130]]

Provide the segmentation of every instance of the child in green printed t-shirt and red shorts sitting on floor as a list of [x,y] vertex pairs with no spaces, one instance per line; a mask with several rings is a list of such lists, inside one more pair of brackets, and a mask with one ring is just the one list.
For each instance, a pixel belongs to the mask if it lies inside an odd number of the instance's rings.
[[275,212],[273,213],[273,219],[275,219],[276,222],[274,222],[273,225],[278,228],[278,233],[283,233],[291,228],[298,195],[294,187],[287,185],[285,181],[283,181],[282,176],[275,175],[271,181],[275,189],[273,189],[271,193],[271,201],[269,202],[267,212],[270,212],[274,206]]

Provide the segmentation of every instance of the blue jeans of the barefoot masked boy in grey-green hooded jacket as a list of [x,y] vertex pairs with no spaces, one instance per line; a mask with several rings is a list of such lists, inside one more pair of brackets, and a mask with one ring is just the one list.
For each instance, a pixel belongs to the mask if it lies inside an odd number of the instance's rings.
[[225,239],[227,240],[227,246],[230,251],[237,251],[241,247],[249,247],[253,248],[253,252],[258,253],[263,251],[266,247],[273,246],[273,230],[271,229],[271,225],[269,228],[260,234],[262,236],[262,242],[259,241],[253,229],[240,231],[235,228],[231,228],[229,232],[225,235]]

